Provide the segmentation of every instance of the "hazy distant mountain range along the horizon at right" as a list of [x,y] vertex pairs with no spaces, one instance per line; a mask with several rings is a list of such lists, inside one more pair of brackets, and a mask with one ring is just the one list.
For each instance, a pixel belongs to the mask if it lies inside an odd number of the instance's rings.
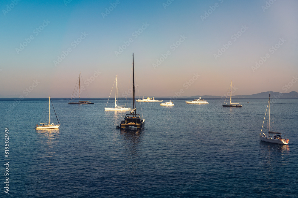
[[[298,99],[298,93],[296,91],[291,91],[290,93],[280,93],[280,92],[273,92],[273,91],[266,91],[259,94],[252,94],[252,95],[236,95],[232,96],[232,99],[267,99],[269,97],[269,93],[271,94],[271,98],[282,98],[282,99]],[[189,98],[198,98],[200,96],[190,96]],[[201,96],[203,99],[205,98],[221,98],[221,96]],[[184,97],[185,98],[185,97]]]

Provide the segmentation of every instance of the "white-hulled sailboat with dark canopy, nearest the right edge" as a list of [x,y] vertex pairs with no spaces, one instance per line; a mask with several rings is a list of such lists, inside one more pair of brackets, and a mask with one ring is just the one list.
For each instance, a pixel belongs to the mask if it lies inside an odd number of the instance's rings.
[[[263,125],[264,125],[264,121],[266,118],[266,113],[267,113],[267,109],[269,106],[269,112],[268,112],[268,131],[266,132],[266,134],[262,134],[262,129],[263,129]],[[264,116],[264,120],[263,120],[263,125],[262,125],[262,129],[260,132],[260,140],[263,142],[271,142],[271,143],[275,143],[275,144],[288,144],[289,143],[289,139],[287,139],[287,137],[282,137],[282,134],[279,132],[273,132],[270,131],[270,94],[269,94],[269,101],[267,104],[267,108],[266,108],[266,112],[265,112],[265,116]]]

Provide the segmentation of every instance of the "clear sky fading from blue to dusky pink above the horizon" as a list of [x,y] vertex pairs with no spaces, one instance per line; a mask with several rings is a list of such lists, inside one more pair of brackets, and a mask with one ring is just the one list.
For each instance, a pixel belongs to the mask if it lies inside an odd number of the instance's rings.
[[[2,0],[0,97],[298,92],[298,1]],[[115,87],[115,85],[114,85]],[[114,91],[113,91],[114,92]]]

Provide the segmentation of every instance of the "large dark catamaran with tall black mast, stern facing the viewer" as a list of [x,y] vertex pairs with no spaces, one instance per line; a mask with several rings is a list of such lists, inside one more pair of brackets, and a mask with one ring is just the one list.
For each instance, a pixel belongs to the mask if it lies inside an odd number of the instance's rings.
[[136,94],[134,86],[134,53],[132,53],[132,80],[133,80],[133,110],[130,114],[126,114],[125,118],[120,122],[120,126],[117,126],[119,129],[128,129],[131,127],[136,127],[139,130],[144,129],[145,119],[141,118],[140,114],[136,114]]

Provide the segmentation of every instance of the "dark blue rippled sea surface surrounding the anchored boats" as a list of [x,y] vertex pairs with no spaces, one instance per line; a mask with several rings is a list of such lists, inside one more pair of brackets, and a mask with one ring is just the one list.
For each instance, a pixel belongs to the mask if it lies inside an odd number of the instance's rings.
[[129,112],[105,111],[114,101],[89,101],[53,98],[60,128],[35,130],[48,121],[47,98],[0,99],[0,197],[298,197],[297,99],[271,100],[288,145],[260,142],[268,99],[138,102],[142,131],[116,129]]

